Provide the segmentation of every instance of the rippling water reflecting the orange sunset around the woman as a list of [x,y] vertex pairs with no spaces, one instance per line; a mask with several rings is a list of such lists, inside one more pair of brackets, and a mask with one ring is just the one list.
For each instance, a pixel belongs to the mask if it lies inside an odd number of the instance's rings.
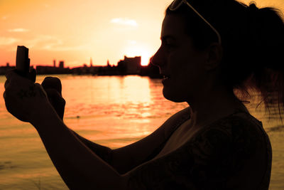
[[[38,76],[41,83],[45,76]],[[162,95],[158,79],[140,76],[58,75],[66,100],[65,124],[94,142],[117,148],[136,142],[187,107]],[[5,77],[0,76],[0,95]],[[284,130],[248,105],[263,121],[273,147],[271,189],[284,188]],[[0,189],[67,189],[35,129],[13,118],[0,98]]]

